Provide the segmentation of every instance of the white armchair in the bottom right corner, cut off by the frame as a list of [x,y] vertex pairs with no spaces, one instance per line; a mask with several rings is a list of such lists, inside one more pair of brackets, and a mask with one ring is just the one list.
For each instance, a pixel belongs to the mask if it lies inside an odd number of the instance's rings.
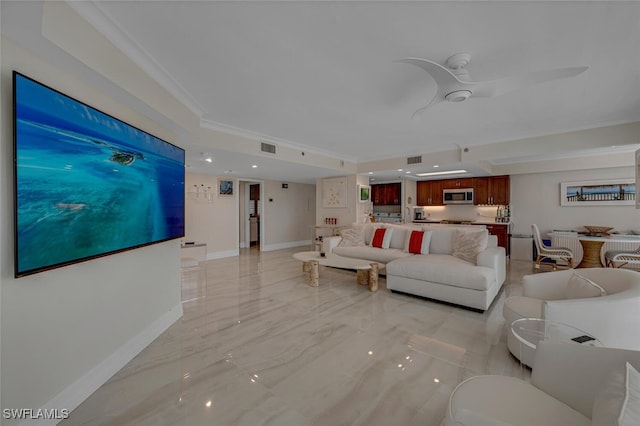
[[[542,341],[531,383],[507,376],[471,377],[451,393],[443,424],[613,425],[618,410],[631,410],[631,416],[640,410],[637,394],[629,391],[626,397],[612,380],[625,371],[626,362],[640,370],[640,352]],[[630,423],[622,424],[638,424],[637,418],[626,419]]]

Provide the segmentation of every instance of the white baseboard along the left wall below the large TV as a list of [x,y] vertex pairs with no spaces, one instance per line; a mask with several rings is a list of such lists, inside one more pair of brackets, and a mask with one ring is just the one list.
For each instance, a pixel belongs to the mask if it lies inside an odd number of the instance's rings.
[[[168,329],[174,322],[182,317],[182,303],[174,306],[156,319],[151,325],[142,330],[131,340],[120,346],[114,353],[108,356],[100,364],[96,365],[85,375],[69,385],[62,392],[54,396],[45,403],[41,410],[60,410],[62,408],[69,411],[78,407],[82,401],[87,399],[100,386],[105,384],[122,367],[127,365],[144,348],[149,346],[158,336]],[[62,419],[33,419],[21,422],[20,426],[54,426]]]

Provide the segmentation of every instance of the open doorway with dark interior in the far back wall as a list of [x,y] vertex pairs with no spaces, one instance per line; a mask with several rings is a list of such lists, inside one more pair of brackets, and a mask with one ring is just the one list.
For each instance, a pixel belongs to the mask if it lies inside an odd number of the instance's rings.
[[240,248],[260,251],[264,235],[263,184],[242,181],[240,188]]

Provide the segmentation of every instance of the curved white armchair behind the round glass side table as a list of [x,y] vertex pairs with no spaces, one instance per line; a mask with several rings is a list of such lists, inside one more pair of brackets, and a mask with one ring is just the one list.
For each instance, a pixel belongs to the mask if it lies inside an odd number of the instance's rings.
[[[599,297],[567,298],[574,273],[598,284]],[[586,268],[526,275],[523,296],[505,300],[507,346],[523,363],[531,365],[533,350],[523,348],[511,332],[520,318],[542,318],[571,325],[595,336],[604,346],[640,350],[640,273],[614,268]]]

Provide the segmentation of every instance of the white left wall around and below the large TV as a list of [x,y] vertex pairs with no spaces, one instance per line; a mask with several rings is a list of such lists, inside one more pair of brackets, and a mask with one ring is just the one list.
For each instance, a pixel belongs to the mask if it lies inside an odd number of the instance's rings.
[[[3,24],[5,19],[12,19],[7,17],[4,5],[2,12]],[[96,33],[74,32],[72,15],[66,21],[46,24],[64,26],[88,48],[95,48],[89,40],[96,39]],[[73,409],[182,314],[179,242],[13,278],[13,126],[7,125],[12,111],[11,71],[23,72],[165,140],[175,141],[176,136],[14,41],[3,37],[1,43],[2,408]],[[76,61],[64,50],[55,49],[58,61]],[[117,68],[123,76],[132,69],[121,56],[100,54],[105,64]],[[102,79],[98,74],[95,78]],[[156,92],[155,96],[167,110],[176,104],[163,93]]]

